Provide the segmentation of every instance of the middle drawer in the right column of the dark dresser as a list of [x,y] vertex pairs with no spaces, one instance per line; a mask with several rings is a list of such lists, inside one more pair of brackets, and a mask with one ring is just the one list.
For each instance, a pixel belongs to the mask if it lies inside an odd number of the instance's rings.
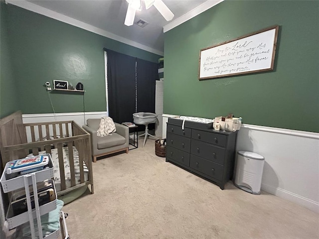
[[225,149],[192,139],[190,153],[224,165]]

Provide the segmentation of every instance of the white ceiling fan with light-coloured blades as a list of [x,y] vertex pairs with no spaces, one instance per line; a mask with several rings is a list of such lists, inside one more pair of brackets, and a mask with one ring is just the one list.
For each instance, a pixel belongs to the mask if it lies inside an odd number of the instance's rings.
[[[136,10],[142,10],[142,0],[126,0],[129,2],[128,10],[126,12],[126,17],[124,24],[127,26],[132,26],[134,23]],[[162,0],[143,0],[145,3],[145,8],[149,9],[152,5],[158,9],[160,14],[166,19],[166,21],[170,21],[173,19],[174,14],[169,10],[169,8],[165,5]]]

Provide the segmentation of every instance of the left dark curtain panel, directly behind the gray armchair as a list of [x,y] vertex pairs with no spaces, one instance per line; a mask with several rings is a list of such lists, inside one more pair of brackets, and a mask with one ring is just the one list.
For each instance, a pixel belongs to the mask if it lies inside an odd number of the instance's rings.
[[133,121],[136,58],[109,49],[104,50],[108,61],[109,116],[118,123]]

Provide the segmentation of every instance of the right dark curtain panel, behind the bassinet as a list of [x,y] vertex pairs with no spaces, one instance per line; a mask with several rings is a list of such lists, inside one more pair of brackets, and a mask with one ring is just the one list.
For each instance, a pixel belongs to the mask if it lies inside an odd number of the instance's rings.
[[[158,63],[137,59],[137,112],[155,113],[155,81],[158,79]],[[150,124],[149,129],[154,126]]]

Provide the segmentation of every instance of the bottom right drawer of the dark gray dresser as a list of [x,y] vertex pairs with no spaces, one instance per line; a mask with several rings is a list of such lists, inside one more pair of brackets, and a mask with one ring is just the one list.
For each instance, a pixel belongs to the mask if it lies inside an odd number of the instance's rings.
[[191,154],[189,166],[192,169],[204,173],[207,176],[217,180],[221,181],[223,178],[223,166],[204,158],[200,158]]

